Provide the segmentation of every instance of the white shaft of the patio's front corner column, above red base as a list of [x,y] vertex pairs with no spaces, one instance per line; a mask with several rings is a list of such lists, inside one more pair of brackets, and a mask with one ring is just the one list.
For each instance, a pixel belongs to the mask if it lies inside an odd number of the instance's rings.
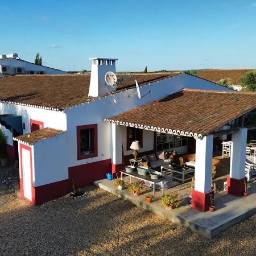
[[213,135],[196,139],[195,191],[207,193],[212,190]]

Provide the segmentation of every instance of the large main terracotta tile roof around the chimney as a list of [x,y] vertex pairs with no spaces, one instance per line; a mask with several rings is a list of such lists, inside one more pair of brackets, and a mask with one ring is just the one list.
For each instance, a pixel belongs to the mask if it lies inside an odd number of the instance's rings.
[[[139,84],[179,73],[146,73],[146,74],[118,74],[120,78],[117,90],[135,86],[135,79]],[[0,100],[18,102],[65,109],[90,101],[88,97],[90,75],[16,75],[0,79]],[[95,98],[95,97],[94,97]]]

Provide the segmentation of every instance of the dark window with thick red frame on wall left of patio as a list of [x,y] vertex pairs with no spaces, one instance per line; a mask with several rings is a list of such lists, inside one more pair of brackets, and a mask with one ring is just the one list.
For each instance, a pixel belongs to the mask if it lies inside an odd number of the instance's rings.
[[77,160],[98,156],[97,125],[77,126]]

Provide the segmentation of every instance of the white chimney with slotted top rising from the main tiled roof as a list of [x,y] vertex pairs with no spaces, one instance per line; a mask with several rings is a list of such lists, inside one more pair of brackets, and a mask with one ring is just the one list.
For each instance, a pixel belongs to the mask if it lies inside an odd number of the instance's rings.
[[97,97],[108,92],[114,92],[114,87],[105,84],[105,75],[109,71],[115,73],[115,61],[117,59],[90,58],[89,60],[92,60],[92,69],[88,96]]

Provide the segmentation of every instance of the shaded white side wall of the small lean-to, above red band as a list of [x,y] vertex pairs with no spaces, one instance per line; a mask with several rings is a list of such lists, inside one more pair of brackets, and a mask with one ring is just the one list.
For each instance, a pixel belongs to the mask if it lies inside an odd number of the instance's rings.
[[67,134],[34,144],[34,187],[68,179]]

